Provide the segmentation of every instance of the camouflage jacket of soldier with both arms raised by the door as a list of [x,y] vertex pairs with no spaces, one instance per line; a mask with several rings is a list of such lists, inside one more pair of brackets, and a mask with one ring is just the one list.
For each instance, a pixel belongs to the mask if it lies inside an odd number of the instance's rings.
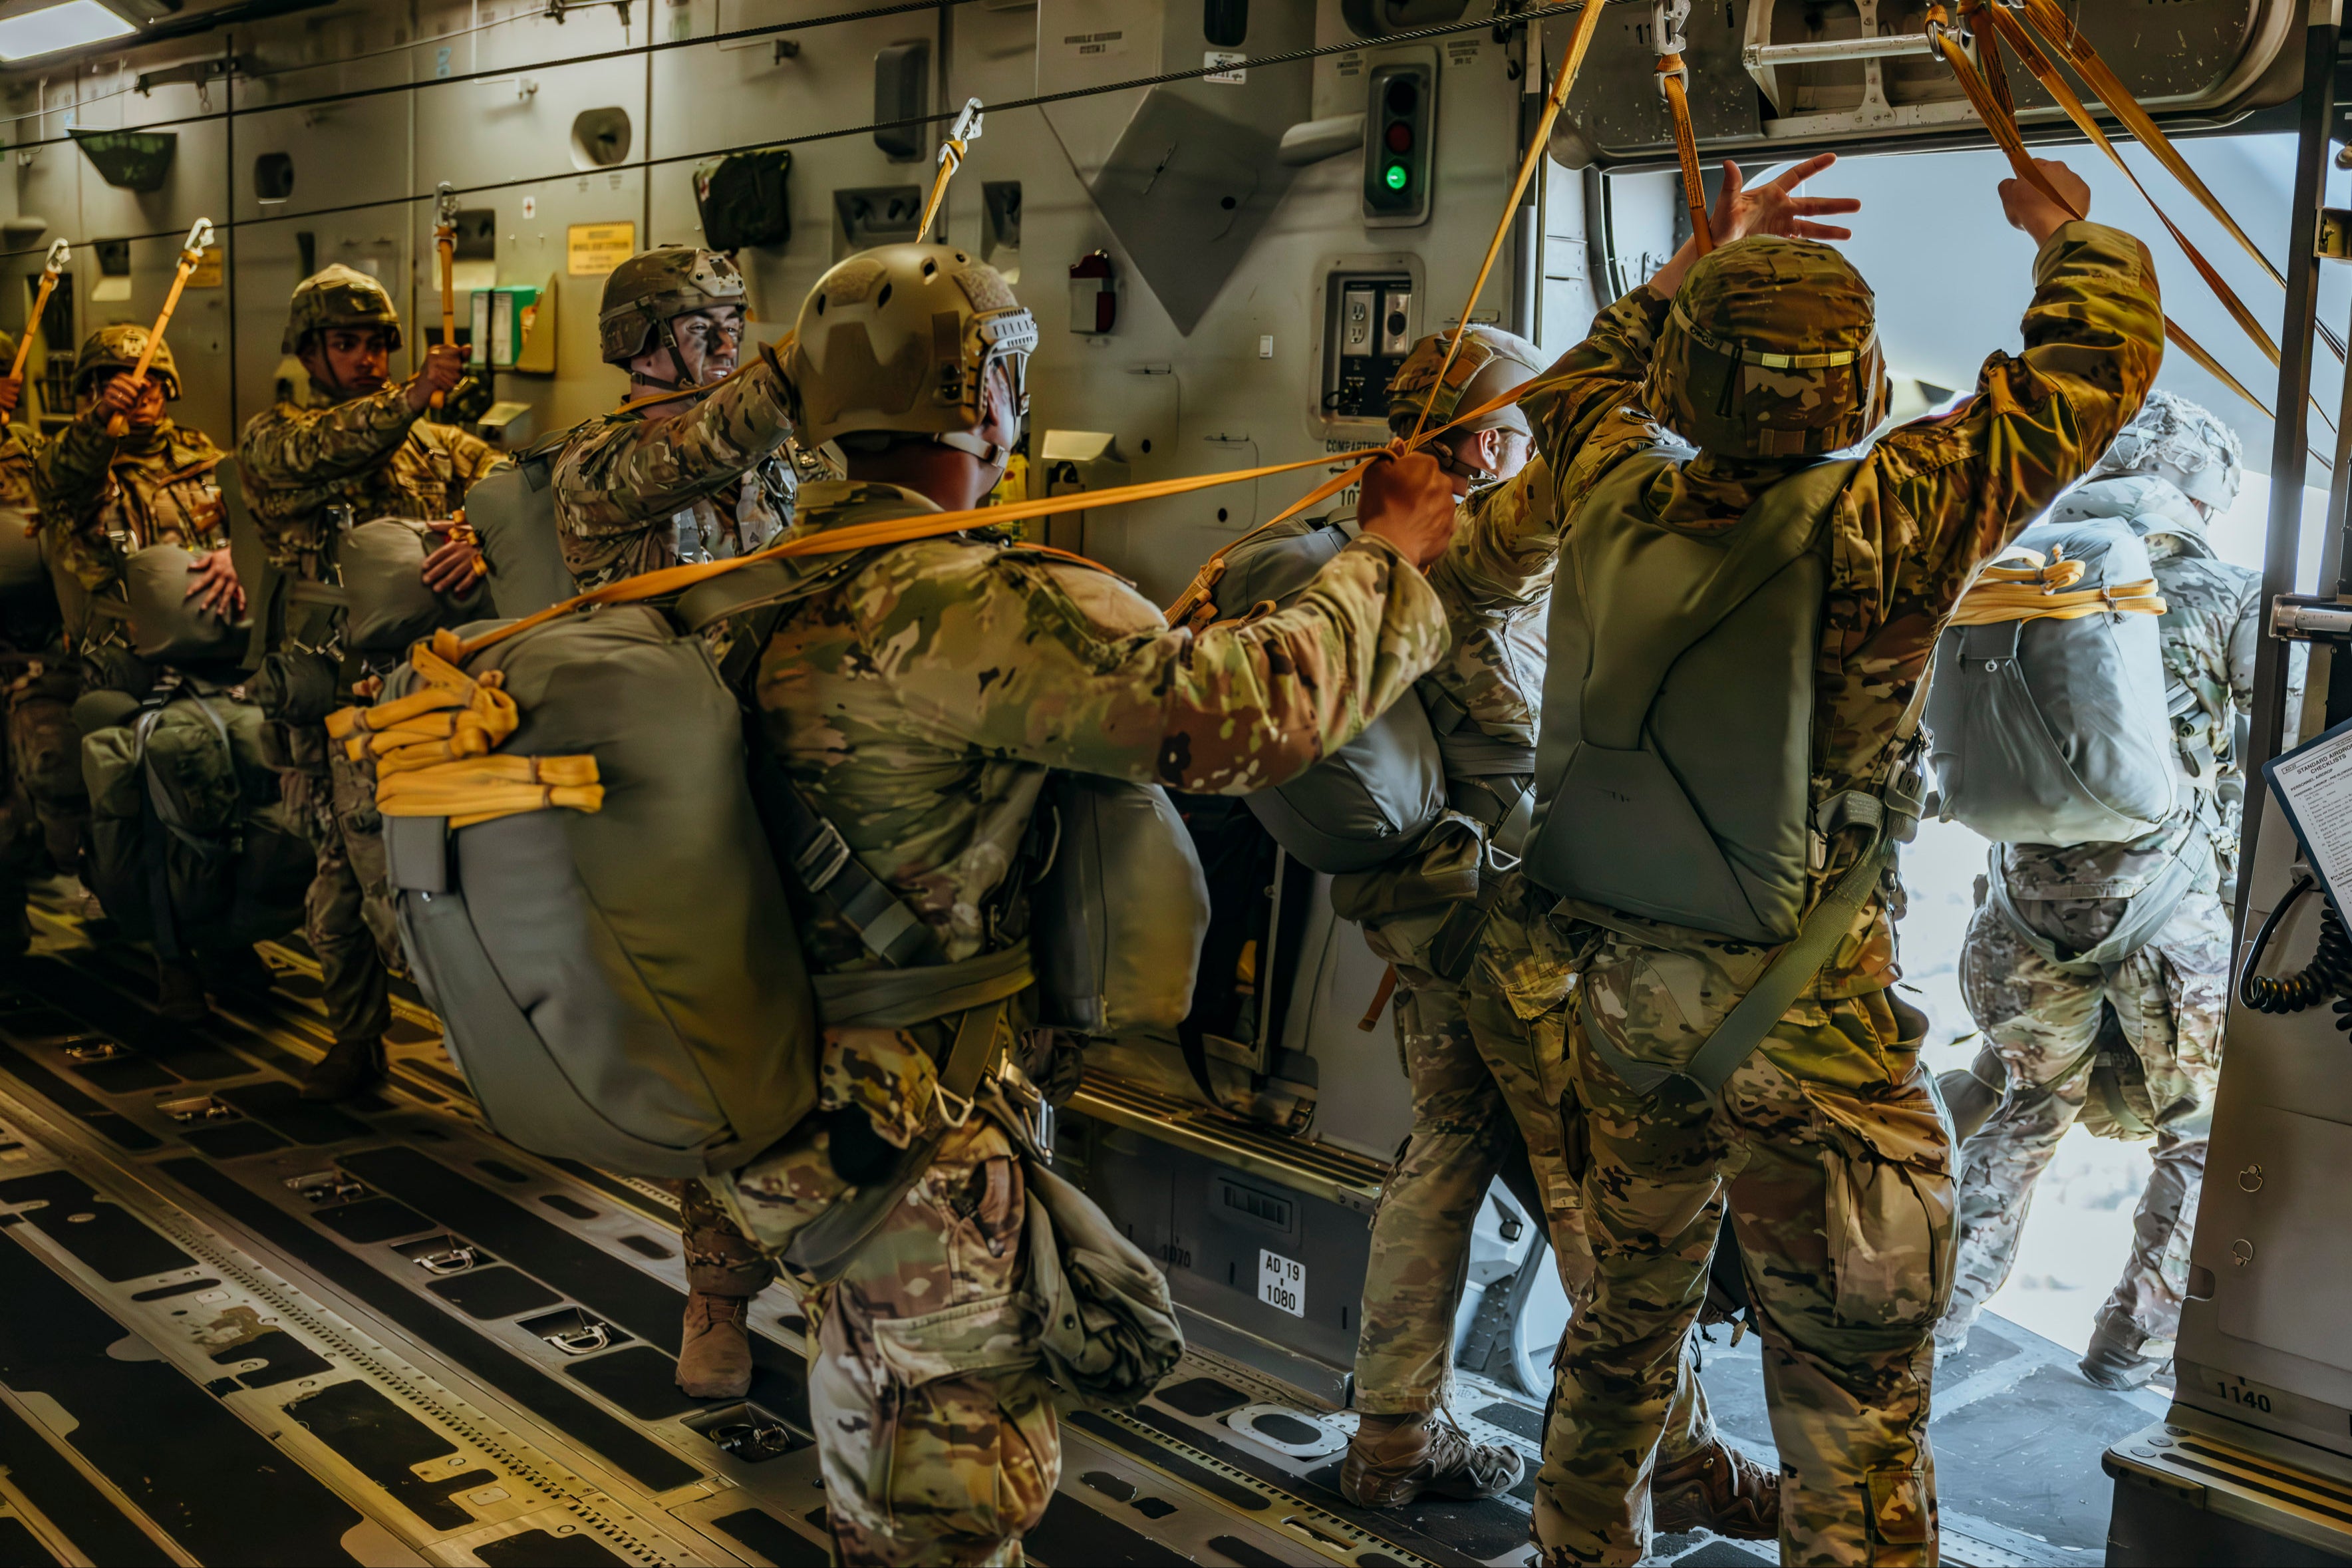
[[[1637,402],[1668,306],[1649,284],[1609,306],[1592,336],[1545,374],[1562,383],[1519,404],[1552,458],[1566,527],[1611,468],[1675,440]],[[2023,355],[1985,360],[1973,397],[1882,435],[1837,498],[1813,672],[1816,799],[1884,776],[1936,632],[1978,564],[2079,480],[2147,397],[2164,357],[2147,249],[2100,223],[2060,228],[2034,256],[2023,336]],[[1651,503],[1665,524],[1724,529],[1804,463],[1700,454],[1665,470]],[[1842,835],[1816,872],[1816,896],[1856,853],[1858,835]],[[1571,903],[1564,912],[1578,910]],[[1658,947],[1722,943],[1623,912],[1606,917]],[[1872,898],[1813,994],[1851,997],[1898,973],[1886,898]]]

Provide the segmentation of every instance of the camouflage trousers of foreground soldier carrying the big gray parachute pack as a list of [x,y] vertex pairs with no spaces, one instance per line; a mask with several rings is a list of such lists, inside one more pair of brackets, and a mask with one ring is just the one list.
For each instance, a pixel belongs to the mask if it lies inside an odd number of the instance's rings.
[[[910,1032],[828,1030],[823,1077],[882,1081],[915,1053],[931,1056]],[[929,1088],[908,1084],[913,1126]],[[821,1114],[710,1187],[771,1253],[849,1192]],[[1023,1561],[1021,1537],[1061,1481],[1042,1324],[1023,1291],[1025,1218],[1014,1143],[974,1114],[948,1131],[849,1269],[807,1293],[809,1413],[842,1563]]]

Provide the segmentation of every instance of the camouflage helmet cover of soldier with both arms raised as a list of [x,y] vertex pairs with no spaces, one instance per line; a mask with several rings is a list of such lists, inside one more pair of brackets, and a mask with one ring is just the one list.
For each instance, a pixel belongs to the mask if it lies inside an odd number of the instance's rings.
[[1886,414],[1877,303],[1828,244],[1755,235],[1700,256],[1658,334],[1646,407],[1700,451],[1853,447]]

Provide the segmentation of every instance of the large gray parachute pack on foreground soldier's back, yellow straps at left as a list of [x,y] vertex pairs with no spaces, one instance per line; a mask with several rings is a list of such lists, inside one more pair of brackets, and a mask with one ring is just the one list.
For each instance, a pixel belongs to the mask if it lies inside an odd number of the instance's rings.
[[[466,668],[503,670],[522,710],[499,752],[595,757],[604,809],[383,820],[449,1056],[489,1126],[539,1154],[656,1178],[741,1166],[816,1103],[818,1032],[734,693],[644,607]],[[414,689],[400,670],[383,696]]]

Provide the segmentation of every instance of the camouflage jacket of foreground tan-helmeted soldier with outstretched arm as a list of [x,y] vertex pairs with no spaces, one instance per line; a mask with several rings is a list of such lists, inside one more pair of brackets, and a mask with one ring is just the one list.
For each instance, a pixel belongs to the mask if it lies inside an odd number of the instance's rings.
[[[802,491],[795,534],[931,510],[826,480]],[[981,950],[1051,769],[1244,795],[1355,738],[1444,649],[1428,581],[1376,538],[1289,609],[1200,635],[1108,571],[983,534],[818,576],[760,661],[769,743],[948,959]],[[826,914],[804,938],[818,969],[863,961]]]

